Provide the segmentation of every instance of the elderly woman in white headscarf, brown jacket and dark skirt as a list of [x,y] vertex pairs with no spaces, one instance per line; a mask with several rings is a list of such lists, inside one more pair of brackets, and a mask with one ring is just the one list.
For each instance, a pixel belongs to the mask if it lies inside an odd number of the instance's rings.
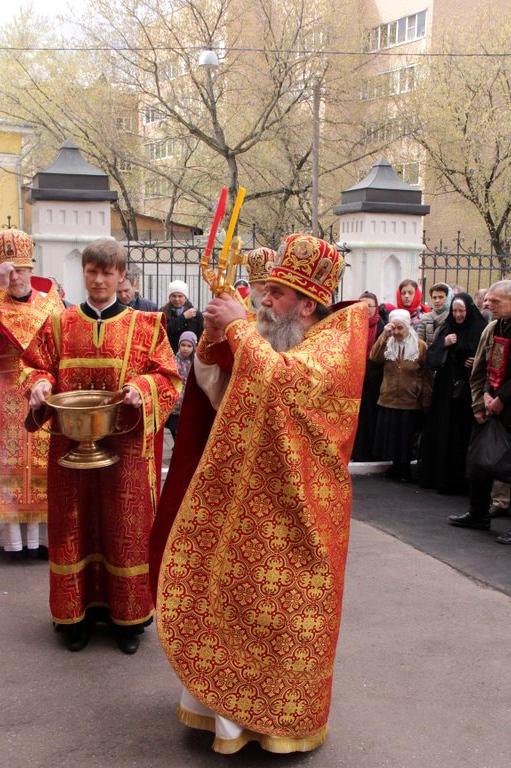
[[409,481],[414,438],[431,401],[431,372],[425,342],[417,337],[405,309],[394,309],[370,359],[383,365],[373,452],[391,460],[388,476]]

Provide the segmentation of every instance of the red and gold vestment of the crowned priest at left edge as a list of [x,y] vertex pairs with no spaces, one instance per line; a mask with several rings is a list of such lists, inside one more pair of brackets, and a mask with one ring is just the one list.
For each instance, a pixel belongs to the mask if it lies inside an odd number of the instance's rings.
[[[49,282],[49,281],[48,281]],[[0,522],[46,521],[48,435],[30,435],[21,356],[51,312],[63,309],[55,289],[27,302],[0,291]]]

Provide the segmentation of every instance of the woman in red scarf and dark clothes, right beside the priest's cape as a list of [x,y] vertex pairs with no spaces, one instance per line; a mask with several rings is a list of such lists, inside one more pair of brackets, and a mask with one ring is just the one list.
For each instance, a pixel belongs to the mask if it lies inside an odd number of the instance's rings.
[[369,335],[367,337],[367,367],[364,377],[364,388],[360,400],[358,428],[351,455],[352,461],[374,461],[373,443],[376,429],[377,402],[383,378],[381,365],[369,359],[369,353],[383,331],[385,322],[380,316],[378,299],[374,293],[364,291],[359,296],[369,309]]

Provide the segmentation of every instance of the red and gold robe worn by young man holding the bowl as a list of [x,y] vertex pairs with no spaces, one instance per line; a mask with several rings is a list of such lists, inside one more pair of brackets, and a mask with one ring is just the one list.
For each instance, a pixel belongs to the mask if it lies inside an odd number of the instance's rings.
[[[57,623],[80,621],[97,606],[121,625],[152,615],[147,547],[158,495],[154,442],[180,386],[161,318],[126,308],[98,322],[73,307],[49,318],[24,356],[28,388],[41,378],[55,392],[113,391],[129,383],[143,402],[135,429],[104,441],[120,456],[111,467],[61,467],[57,460],[71,443],[51,437],[48,546],[50,608]],[[133,424],[136,410],[124,410]]]

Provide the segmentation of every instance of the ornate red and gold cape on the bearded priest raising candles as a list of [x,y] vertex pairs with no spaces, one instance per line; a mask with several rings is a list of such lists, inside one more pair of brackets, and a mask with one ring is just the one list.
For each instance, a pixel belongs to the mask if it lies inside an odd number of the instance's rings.
[[365,369],[360,304],[276,353],[247,321],[160,570],[158,629],[190,693],[260,734],[324,737]]

